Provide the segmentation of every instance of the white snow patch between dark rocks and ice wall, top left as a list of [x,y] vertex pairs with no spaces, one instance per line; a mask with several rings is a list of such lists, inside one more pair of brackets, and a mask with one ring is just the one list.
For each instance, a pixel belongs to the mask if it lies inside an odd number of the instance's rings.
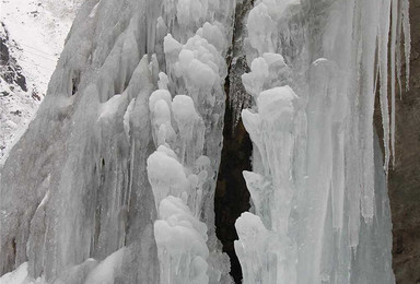
[[20,63],[40,94],[46,94],[66,36],[83,1],[2,0],[1,21],[20,46]]

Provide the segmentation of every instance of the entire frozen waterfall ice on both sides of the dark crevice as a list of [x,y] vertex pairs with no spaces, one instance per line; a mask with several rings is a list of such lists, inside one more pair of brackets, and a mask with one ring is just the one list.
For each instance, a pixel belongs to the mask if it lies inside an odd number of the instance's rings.
[[1,169],[2,280],[230,283],[213,221],[229,75],[254,143],[244,283],[394,282],[372,119],[380,80],[387,167],[407,1],[245,2],[84,3]]

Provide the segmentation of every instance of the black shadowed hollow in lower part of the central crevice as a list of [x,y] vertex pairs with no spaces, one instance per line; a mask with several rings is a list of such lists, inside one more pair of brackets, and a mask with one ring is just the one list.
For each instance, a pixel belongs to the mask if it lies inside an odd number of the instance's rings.
[[214,196],[215,234],[223,244],[223,251],[231,258],[231,275],[235,283],[241,283],[242,269],[233,246],[237,239],[234,225],[236,218],[249,209],[249,192],[242,171],[250,170],[253,146],[241,120],[233,132],[232,118],[233,110],[226,106],[222,158]]

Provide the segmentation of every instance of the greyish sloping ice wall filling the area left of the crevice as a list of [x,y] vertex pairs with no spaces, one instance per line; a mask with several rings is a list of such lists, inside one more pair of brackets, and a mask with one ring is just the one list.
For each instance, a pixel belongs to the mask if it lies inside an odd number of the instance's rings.
[[[85,1],[1,169],[0,274],[27,262],[28,281],[159,283],[180,261],[173,283],[229,282],[213,194],[234,7]],[[184,247],[162,238],[179,226]]]

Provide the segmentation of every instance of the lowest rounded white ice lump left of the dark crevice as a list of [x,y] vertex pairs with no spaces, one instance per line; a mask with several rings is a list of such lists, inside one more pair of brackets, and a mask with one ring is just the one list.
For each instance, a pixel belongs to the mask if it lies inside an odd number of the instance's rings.
[[161,201],[154,235],[161,268],[161,283],[208,283],[207,226],[182,199]]

